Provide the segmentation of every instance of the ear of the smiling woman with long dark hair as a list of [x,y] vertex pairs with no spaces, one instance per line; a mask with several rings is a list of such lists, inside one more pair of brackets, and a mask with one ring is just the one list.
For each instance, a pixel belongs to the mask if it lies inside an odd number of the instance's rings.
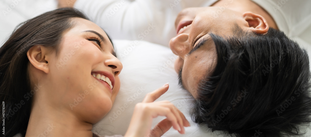
[[27,51],[27,57],[30,63],[35,68],[43,71],[44,73],[49,73],[48,60],[46,55],[47,50],[42,45],[35,45]]

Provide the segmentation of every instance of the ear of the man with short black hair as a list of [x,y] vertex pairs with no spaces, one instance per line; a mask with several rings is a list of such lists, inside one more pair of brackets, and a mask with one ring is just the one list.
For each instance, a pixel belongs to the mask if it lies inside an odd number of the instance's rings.
[[258,33],[258,34],[264,34],[267,33],[269,30],[269,25],[265,18],[258,14],[254,14],[252,12],[245,12],[243,13],[243,17],[245,21],[248,22],[248,26],[251,31]]

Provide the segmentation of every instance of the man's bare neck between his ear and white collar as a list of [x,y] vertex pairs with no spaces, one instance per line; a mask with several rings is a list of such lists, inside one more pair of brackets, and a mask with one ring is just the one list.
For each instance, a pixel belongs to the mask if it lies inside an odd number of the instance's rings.
[[230,10],[241,13],[253,12],[255,14],[264,17],[267,20],[267,23],[269,24],[270,27],[278,29],[276,22],[271,17],[271,15],[267,11],[265,11],[262,7],[260,7],[259,5],[250,0],[219,0],[215,2],[212,6],[226,7]]

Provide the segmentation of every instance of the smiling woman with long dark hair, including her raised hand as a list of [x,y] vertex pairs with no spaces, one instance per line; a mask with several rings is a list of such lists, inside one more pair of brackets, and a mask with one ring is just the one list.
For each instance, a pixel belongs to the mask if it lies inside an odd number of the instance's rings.
[[[4,136],[97,136],[92,124],[111,109],[121,62],[105,32],[64,8],[23,23],[0,48]],[[170,102],[153,102],[168,84],[135,107],[125,136],[160,136],[190,126]],[[152,118],[166,116],[153,130]],[[159,130],[160,129],[160,130]]]

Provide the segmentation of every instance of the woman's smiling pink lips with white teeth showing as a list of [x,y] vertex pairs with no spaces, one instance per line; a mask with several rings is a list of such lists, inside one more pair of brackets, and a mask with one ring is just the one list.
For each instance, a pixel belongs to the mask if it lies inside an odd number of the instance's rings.
[[92,71],[91,75],[96,78],[100,83],[104,84],[112,93],[115,78],[111,73],[106,71]]

